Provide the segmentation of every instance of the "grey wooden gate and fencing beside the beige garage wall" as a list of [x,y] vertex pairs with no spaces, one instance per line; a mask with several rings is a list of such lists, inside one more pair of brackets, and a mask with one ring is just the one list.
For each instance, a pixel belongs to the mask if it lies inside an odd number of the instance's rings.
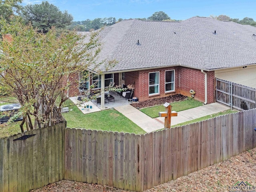
[[216,101],[238,110],[256,108],[256,89],[216,78]]

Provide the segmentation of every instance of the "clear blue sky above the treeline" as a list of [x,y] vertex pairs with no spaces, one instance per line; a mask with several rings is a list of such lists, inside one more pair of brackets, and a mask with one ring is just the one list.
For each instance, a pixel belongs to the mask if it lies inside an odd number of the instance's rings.
[[[41,4],[42,0],[23,0],[23,5]],[[73,21],[95,18],[148,18],[163,11],[171,19],[186,20],[194,16],[227,15],[230,18],[253,18],[256,0],[48,0],[61,11],[67,10]]]

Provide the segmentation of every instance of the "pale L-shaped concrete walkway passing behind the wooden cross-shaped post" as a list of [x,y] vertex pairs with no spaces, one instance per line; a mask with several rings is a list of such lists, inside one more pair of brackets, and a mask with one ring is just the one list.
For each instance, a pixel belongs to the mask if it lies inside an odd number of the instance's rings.
[[[132,120],[135,124],[140,126],[140,128],[142,128],[146,132],[152,132],[164,128],[164,117],[157,117],[152,119],[129,104],[124,106],[118,106],[114,109],[116,109],[124,116]],[[211,115],[228,109],[230,108],[222,104],[211,103],[196,108],[180,111],[178,112],[177,117],[172,117],[171,125],[176,125],[179,123],[183,123],[189,120]]]

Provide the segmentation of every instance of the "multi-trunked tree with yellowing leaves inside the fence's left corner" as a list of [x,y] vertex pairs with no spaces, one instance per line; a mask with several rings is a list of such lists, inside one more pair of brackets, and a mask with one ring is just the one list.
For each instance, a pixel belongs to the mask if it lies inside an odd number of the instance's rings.
[[[12,36],[11,41],[6,38],[0,41],[0,89],[13,93],[22,105],[22,132],[24,123],[31,130],[63,121],[61,108],[72,86],[68,78],[92,64],[100,72],[95,62],[100,52],[97,33],[89,37],[75,32],[57,36],[54,27],[43,34],[21,22],[7,24],[1,20],[0,24],[3,37]],[[115,63],[106,62],[104,66],[108,68]]]

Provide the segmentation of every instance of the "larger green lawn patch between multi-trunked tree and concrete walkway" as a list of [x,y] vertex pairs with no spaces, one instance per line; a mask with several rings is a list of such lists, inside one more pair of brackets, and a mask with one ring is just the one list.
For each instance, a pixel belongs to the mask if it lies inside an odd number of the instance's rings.
[[78,107],[71,106],[72,104],[70,100],[65,103],[65,106],[69,106],[69,109],[72,109],[70,112],[63,113],[67,121],[67,127],[134,134],[146,133],[142,128],[114,109],[83,114]]

